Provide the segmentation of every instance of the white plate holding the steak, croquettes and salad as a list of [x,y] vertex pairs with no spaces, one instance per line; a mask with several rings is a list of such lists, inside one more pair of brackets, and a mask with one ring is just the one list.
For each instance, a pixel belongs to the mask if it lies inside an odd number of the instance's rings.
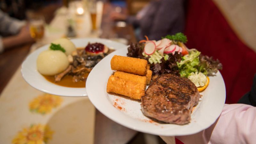
[[110,60],[114,55],[126,56],[126,53],[127,48],[123,48],[109,54],[92,69],[87,78],[88,97],[102,114],[133,130],[161,136],[180,136],[200,132],[220,116],[226,99],[225,84],[220,72],[216,76],[209,77],[210,84],[201,93],[203,97],[191,114],[190,123],[185,125],[154,122],[142,114],[140,100],[107,93],[108,78],[113,73]]

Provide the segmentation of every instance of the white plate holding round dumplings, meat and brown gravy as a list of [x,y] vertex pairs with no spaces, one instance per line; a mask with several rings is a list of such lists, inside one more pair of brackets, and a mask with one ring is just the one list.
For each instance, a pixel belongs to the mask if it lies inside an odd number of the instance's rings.
[[[71,41],[75,44],[76,47],[85,47],[88,42],[95,43],[99,42],[102,44],[107,45],[113,49],[120,49],[123,47],[127,47],[124,44],[110,41],[107,39],[100,39],[100,38],[77,38],[71,39]],[[79,97],[79,96],[87,96],[87,92],[85,88],[71,88],[71,87],[64,87],[60,85],[53,84],[47,81],[44,76],[42,76],[36,69],[36,59],[39,53],[42,51],[47,50],[49,44],[42,46],[41,48],[37,49],[35,52],[28,55],[26,60],[22,63],[21,66],[21,73],[23,78],[26,80],[28,84],[32,87],[46,93],[60,95],[60,96],[71,96],[71,97]]]

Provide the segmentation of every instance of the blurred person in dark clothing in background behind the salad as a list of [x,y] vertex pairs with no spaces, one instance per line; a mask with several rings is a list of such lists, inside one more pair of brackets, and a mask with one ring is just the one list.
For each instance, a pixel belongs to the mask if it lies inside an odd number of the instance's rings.
[[136,16],[111,13],[112,20],[123,20],[137,28],[138,40],[159,40],[162,36],[184,31],[184,0],[151,0]]

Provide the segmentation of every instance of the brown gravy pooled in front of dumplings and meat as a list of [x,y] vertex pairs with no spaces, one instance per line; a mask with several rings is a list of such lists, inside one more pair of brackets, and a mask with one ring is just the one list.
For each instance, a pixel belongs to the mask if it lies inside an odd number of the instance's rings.
[[[89,75],[89,73],[85,73],[84,77],[88,77],[88,75]],[[76,88],[85,87],[85,82],[86,82],[86,80],[79,81],[79,82],[73,82],[72,81],[73,76],[70,76],[70,75],[64,76],[61,79],[61,81],[59,81],[59,82],[55,82],[54,76],[44,76],[44,78],[53,84],[57,84],[60,86],[66,86],[66,87],[76,87]]]

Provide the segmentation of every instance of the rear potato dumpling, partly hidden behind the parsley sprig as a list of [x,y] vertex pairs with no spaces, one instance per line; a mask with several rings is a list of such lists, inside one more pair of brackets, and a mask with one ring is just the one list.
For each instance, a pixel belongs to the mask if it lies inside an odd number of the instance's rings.
[[[76,46],[67,38],[56,39],[52,42],[53,44],[60,44],[66,50],[66,55],[71,54],[73,51],[76,51]],[[49,48],[50,49],[50,48]]]

